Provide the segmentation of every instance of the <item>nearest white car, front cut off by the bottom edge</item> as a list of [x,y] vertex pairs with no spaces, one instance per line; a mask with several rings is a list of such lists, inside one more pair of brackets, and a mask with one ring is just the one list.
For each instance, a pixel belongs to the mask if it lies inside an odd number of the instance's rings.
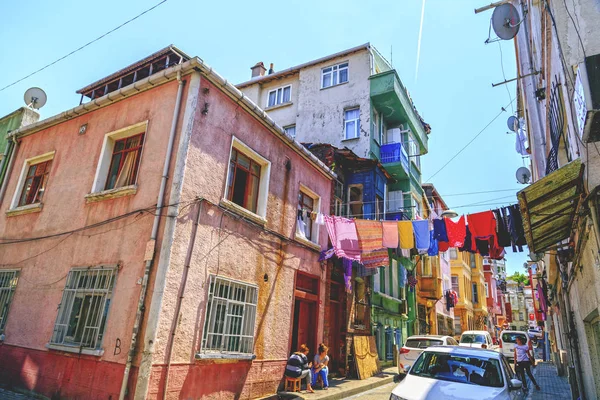
[[522,382],[497,351],[459,346],[424,350],[390,400],[521,400]]

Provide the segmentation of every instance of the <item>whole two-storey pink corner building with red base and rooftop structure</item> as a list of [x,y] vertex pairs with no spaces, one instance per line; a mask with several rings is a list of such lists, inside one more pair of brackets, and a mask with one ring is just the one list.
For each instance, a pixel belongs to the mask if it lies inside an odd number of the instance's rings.
[[12,132],[0,381],[82,399],[274,393],[291,333],[323,337],[311,216],[334,175],[173,46],[79,93]]

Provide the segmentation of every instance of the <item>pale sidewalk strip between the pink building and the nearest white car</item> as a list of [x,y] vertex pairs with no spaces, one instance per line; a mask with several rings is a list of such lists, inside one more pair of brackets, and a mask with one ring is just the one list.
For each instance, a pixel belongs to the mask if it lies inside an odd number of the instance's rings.
[[[394,376],[398,373],[398,367],[386,368],[378,376],[373,376],[363,380],[351,380],[345,378],[330,378],[329,389],[321,390],[315,388],[315,393],[289,393],[279,392],[280,399],[303,399],[303,400],[340,400],[350,396],[366,392],[379,386],[387,385],[394,381]],[[277,398],[277,397],[272,397]]]

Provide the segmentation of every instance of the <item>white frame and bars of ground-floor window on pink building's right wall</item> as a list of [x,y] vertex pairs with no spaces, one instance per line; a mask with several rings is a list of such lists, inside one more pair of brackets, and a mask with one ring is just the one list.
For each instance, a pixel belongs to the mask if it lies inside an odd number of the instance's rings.
[[[258,308],[258,286],[230,279],[224,276],[210,275],[206,311],[204,314],[204,327],[202,329],[202,345],[198,358],[248,358],[252,359],[254,349],[254,331]],[[223,291],[220,288],[224,288]],[[242,289],[244,298],[241,298]],[[224,295],[223,295],[224,294]],[[238,296],[237,298],[230,296]],[[218,322],[218,306],[225,307],[222,321]],[[239,332],[233,333],[236,326],[231,322],[240,315]],[[220,332],[216,331],[219,326]],[[229,331],[227,331],[229,329]],[[237,337],[239,340],[237,351],[225,348],[227,338]],[[214,340],[217,345],[209,346],[208,342]],[[231,343],[231,342],[230,342]],[[244,344],[242,344],[244,343]],[[241,351],[246,350],[246,351]]]

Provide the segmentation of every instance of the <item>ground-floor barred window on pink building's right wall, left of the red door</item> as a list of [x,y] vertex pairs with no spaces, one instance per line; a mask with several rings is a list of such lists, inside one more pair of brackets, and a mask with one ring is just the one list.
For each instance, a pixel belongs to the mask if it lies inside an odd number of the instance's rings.
[[210,276],[202,351],[252,354],[258,287]]

